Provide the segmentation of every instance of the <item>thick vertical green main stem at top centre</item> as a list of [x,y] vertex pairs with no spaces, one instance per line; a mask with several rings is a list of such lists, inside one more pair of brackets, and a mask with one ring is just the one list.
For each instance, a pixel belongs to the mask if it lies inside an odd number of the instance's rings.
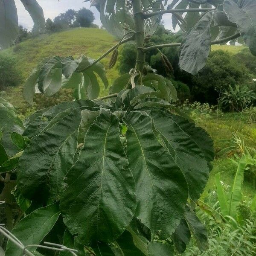
[[145,63],[145,53],[143,51],[144,44],[144,18],[141,9],[141,0],[132,0],[135,23],[135,41],[137,45],[137,58],[135,69],[142,73]]

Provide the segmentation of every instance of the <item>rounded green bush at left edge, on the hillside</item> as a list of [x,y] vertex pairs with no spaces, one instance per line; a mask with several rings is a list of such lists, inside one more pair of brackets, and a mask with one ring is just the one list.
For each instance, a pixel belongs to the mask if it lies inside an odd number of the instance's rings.
[[22,82],[22,76],[15,58],[0,54],[0,89],[17,86]]

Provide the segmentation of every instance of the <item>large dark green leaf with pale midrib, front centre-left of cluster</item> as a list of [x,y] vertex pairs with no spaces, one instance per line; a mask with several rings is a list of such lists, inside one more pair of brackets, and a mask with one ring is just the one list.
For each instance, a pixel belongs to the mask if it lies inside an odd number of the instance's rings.
[[134,178],[119,133],[119,119],[101,113],[88,129],[79,159],[67,174],[61,212],[80,243],[114,241],[134,215]]

